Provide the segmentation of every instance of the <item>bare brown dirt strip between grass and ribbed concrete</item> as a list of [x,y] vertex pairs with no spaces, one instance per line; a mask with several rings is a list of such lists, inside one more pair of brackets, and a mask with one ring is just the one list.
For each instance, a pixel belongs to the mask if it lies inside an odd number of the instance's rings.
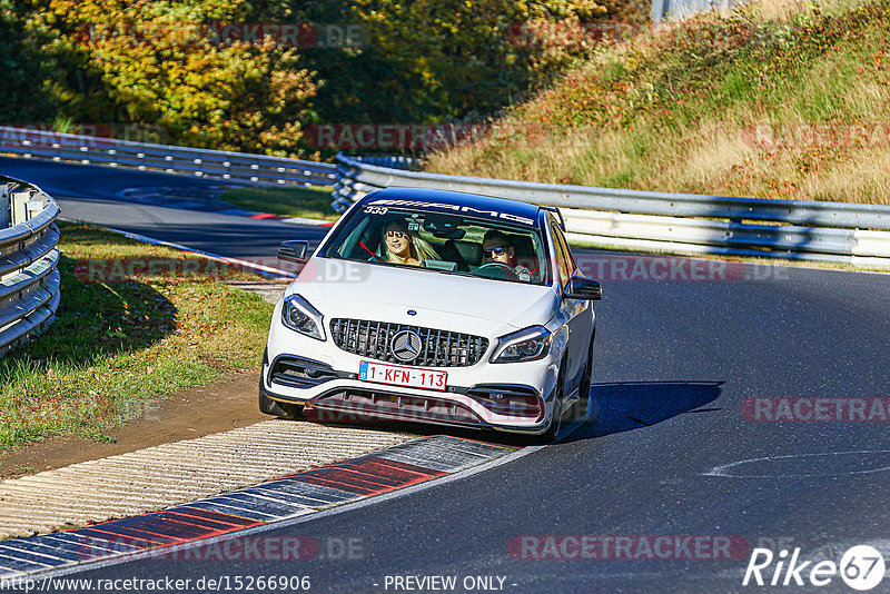
[[115,443],[61,436],[0,453],[0,478],[12,478],[144,447],[201,437],[271,418],[257,408],[259,372],[227,374],[214,384],[161,399],[107,435]]

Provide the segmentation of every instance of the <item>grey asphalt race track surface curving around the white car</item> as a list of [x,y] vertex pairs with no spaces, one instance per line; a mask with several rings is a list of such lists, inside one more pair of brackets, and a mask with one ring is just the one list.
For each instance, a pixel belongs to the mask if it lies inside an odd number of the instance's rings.
[[[67,216],[77,209],[77,218],[106,222],[115,209],[117,227],[231,256],[273,250],[279,232],[319,232],[225,216],[197,224],[201,216],[187,211],[128,215],[113,191],[139,181],[129,177],[137,174],[7,160],[0,172],[58,196],[82,195],[62,200]],[[503,592],[852,592],[838,575],[822,587],[783,588],[784,571],[779,586],[744,587],[742,578],[756,546],[799,547],[800,561],[813,562],[804,581],[814,562],[837,563],[853,545],[890,558],[887,422],[754,422],[742,410],[751,398],[890,397],[890,277],[744,268],[731,279],[694,281],[610,273],[596,305],[591,419],[556,444],[481,472],[251,535],[315,538],[314,560],[142,560],[69,577],[222,577],[234,585],[236,576],[306,575],[313,592],[432,592],[396,587],[394,578],[435,575],[456,576],[455,592],[484,591],[464,588],[475,576],[503,577]],[[576,544],[583,535],[599,537],[587,538],[587,553]],[[659,545],[662,536],[670,538]],[[696,551],[689,536],[733,543],[732,558]],[[632,545],[619,552],[622,537]],[[580,558],[591,554],[611,558]],[[767,583],[775,561],[762,572]],[[872,592],[888,591],[890,577]]]

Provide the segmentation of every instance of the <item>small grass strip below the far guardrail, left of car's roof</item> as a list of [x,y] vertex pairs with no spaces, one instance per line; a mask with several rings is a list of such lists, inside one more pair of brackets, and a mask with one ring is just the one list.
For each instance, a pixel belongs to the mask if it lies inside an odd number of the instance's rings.
[[330,208],[330,187],[237,188],[226,190],[222,200],[230,205],[286,217],[337,220]]

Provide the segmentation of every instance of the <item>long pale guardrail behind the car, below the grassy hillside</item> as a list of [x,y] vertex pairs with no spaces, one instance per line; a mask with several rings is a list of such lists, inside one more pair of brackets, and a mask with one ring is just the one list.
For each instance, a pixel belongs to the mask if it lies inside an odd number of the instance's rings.
[[558,206],[570,239],[619,249],[890,268],[890,207],[634,191],[411,171],[404,158],[337,156],[332,207],[387,187],[467,191]]

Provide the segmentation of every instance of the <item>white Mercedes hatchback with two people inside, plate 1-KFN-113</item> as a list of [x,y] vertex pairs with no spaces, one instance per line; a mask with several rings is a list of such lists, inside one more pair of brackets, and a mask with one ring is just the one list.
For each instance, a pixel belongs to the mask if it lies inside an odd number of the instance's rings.
[[[278,257],[305,261],[306,241]],[[330,229],[273,314],[259,408],[551,437],[591,387],[595,280],[558,210],[390,188]]]

